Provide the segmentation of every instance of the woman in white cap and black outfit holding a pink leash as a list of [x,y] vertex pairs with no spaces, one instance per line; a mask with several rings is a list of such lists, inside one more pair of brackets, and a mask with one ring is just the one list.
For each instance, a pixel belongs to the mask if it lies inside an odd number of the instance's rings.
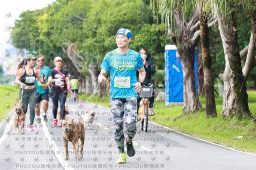
[[54,105],[52,109],[53,113],[53,127],[57,126],[57,110],[58,110],[58,101],[60,101],[60,123],[59,127],[62,127],[62,121],[65,113],[65,102],[68,94],[68,89],[70,88],[70,80],[68,76],[68,70],[62,67],[62,58],[54,58],[54,67],[50,70],[48,81],[53,83],[51,85],[51,91],[49,93],[52,98],[52,104]]

